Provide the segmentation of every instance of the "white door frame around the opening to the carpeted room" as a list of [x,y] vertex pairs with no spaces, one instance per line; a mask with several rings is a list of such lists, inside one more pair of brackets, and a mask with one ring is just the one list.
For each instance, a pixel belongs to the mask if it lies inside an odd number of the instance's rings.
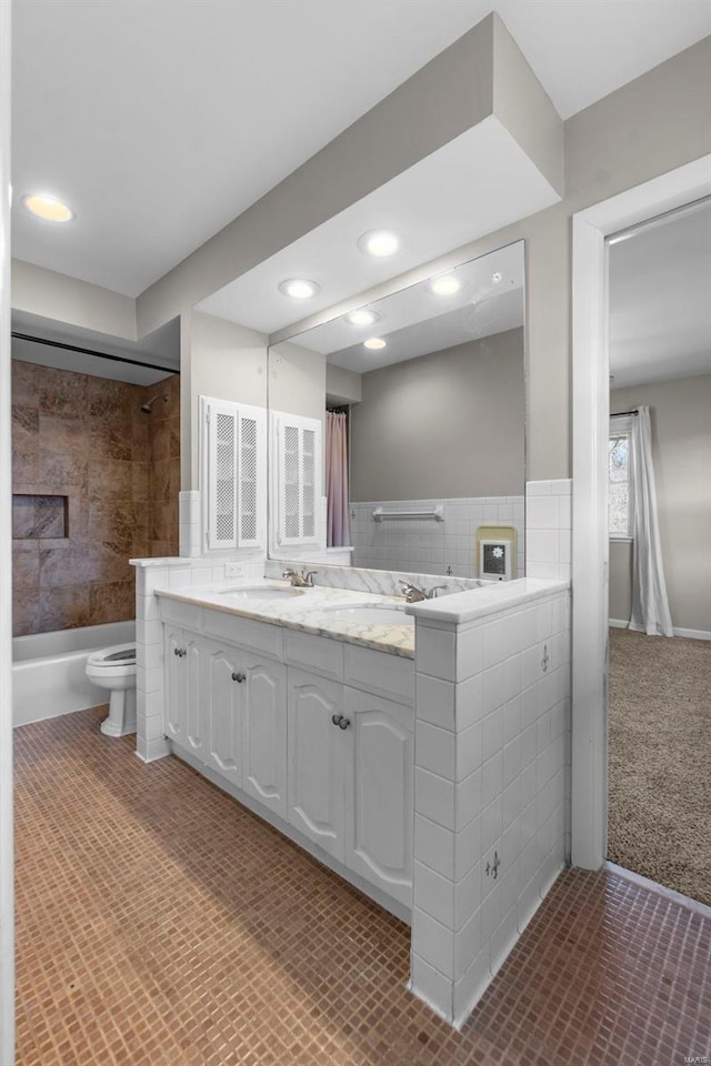
[[572,217],[571,861],[607,857],[608,435],[605,237],[711,194],[711,154]]

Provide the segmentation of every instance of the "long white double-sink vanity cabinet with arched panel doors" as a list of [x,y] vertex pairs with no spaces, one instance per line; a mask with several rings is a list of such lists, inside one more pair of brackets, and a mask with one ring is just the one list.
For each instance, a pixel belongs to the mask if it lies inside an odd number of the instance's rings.
[[412,660],[169,599],[161,615],[176,754],[407,916]]

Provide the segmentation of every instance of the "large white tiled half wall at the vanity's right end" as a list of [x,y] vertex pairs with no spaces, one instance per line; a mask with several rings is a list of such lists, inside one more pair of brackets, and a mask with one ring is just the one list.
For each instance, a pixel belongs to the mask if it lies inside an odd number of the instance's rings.
[[[455,620],[464,599],[482,607]],[[459,1026],[568,862],[570,592],[525,579],[413,613],[411,988]]]

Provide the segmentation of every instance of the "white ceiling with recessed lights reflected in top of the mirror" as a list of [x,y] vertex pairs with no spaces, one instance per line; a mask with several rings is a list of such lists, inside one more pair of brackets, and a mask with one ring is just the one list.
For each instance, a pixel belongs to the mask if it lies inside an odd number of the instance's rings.
[[[434,295],[428,282],[420,282],[368,304],[380,315],[373,325],[351,325],[341,315],[291,341],[327,355],[337,366],[367,373],[523,325],[522,241],[463,263],[451,273],[461,284],[451,296]],[[500,281],[493,280],[497,273]],[[382,338],[388,346],[380,351],[363,348],[369,336]]]

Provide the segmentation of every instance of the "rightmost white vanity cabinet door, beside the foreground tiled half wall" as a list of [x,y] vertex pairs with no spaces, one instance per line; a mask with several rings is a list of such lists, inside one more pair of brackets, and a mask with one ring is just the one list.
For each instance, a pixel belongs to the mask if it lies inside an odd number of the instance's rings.
[[356,688],[344,692],[352,735],[346,865],[410,906],[414,712]]

